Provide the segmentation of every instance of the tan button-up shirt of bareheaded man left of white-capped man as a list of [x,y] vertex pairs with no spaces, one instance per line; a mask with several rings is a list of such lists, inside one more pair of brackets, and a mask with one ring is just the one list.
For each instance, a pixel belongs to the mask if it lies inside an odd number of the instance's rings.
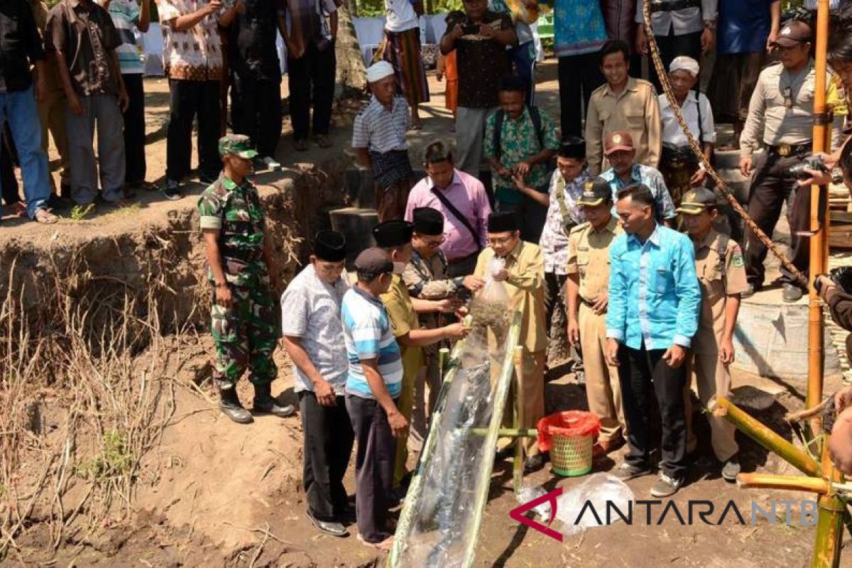
[[608,84],[595,89],[586,116],[586,158],[591,175],[609,168],[603,157],[603,139],[615,130],[627,130],[636,146],[636,163],[657,167],[662,145],[659,100],[653,85],[630,77],[615,95]]

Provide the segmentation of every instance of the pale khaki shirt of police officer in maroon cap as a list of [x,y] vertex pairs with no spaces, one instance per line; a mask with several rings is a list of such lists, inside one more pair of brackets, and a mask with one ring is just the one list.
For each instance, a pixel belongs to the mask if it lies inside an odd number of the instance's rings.
[[[780,63],[760,72],[740,135],[740,156],[749,158],[761,142],[768,146],[797,145],[813,138],[815,79],[813,60],[795,76]],[[837,92],[830,79],[826,79],[829,99],[832,91],[834,95]],[[788,104],[792,107],[787,108]],[[763,132],[760,132],[761,122]]]

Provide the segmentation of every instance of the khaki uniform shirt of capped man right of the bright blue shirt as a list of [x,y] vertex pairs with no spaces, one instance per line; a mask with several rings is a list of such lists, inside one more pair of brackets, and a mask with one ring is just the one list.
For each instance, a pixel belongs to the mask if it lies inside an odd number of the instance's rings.
[[728,295],[741,294],[748,288],[740,245],[728,238],[722,258],[720,238],[722,236],[711,229],[703,241],[695,243],[695,274],[701,283],[701,317],[692,347],[699,354],[718,353],[725,330]]

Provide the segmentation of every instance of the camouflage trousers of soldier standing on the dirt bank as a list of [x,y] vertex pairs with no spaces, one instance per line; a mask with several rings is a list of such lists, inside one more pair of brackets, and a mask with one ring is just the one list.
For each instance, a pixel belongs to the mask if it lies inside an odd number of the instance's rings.
[[213,379],[220,388],[233,387],[248,368],[252,384],[269,384],[278,374],[272,359],[278,341],[273,296],[267,284],[230,288],[231,307],[216,304],[214,289],[210,308],[216,345]]

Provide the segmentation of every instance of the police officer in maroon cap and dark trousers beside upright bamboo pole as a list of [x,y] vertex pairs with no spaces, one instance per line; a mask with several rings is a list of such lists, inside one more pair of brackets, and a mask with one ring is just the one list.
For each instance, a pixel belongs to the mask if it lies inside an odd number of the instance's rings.
[[[803,273],[808,271],[809,244],[797,232],[810,225],[810,186],[796,186],[790,173],[811,151],[814,126],[816,72],[810,58],[810,27],[793,20],[780,31],[772,45],[779,49],[780,63],[769,66],[757,78],[751,95],[746,126],[740,136],[740,172],[751,177],[748,212],[763,232],[772,235],[787,201],[790,221],[790,257]],[[832,83],[832,82],[830,82]],[[830,87],[833,89],[833,87]],[[760,125],[763,122],[763,132]],[[752,158],[763,142],[763,153]],[[753,233],[746,238],[746,273],[749,296],[763,287],[766,246]],[[792,275],[782,269],[784,300],[797,301],[802,292]]]

